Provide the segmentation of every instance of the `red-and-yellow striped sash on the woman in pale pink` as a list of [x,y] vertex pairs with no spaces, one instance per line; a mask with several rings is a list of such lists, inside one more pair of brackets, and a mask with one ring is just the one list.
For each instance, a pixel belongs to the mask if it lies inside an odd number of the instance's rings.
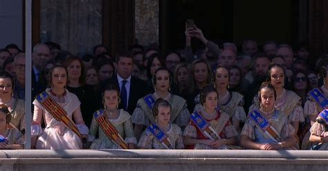
[[51,116],[53,116],[57,121],[62,122],[67,128],[71,129],[75,132],[75,134],[78,134],[78,136],[82,139],[78,127],[76,127],[75,123],[73,123],[73,121],[67,116],[64,108],[54,101],[48,92],[44,91],[38,94],[36,99],[42,107],[44,107],[44,109],[51,114]]

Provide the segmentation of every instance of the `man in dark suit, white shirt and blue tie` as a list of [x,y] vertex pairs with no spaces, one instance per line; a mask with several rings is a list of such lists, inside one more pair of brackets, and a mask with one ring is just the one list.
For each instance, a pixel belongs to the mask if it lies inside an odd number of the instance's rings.
[[104,81],[104,85],[112,83],[120,88],[120,106],[129,114],[134,112],[138,99],[145,96],[145,81],[132,77],[132,68],[134,66],[133,57],[130,52],[122,52],[118,54],[117,74],[111,79]]

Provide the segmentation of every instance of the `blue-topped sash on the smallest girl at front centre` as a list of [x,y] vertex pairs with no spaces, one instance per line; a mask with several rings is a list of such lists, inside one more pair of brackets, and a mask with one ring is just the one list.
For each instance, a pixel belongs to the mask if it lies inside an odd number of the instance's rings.
[[174,149],[172,143],[167,134],[161,130],[156,124],[151,124],[147,128],[147,132],[151,132],[154,137],[168,150]]

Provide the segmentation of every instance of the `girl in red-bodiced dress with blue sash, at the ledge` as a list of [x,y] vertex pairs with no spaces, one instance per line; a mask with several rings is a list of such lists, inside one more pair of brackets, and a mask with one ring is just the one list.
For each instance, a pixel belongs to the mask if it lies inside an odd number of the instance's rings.
[[[229,149],[237,140],[237,131],[226,112],[217,111],[217,91],[211,86],[201,90],[202,108],[190,116],[183,132],[184,143],[192,149]],[[195,107],[196,108],[196,107]]]

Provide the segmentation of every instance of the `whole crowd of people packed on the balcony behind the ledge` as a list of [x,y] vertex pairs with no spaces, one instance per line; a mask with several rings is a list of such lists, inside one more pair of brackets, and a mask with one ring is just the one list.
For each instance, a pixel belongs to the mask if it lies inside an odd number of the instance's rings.
[[[165,55],[98,45],[76,57],[48,41],[32,59],[35,149],[328,150],[328,56],[306,43],[239,50],[194,26]],[[0,149],[24,148],[25,63],[15,44],[0,49]]]

